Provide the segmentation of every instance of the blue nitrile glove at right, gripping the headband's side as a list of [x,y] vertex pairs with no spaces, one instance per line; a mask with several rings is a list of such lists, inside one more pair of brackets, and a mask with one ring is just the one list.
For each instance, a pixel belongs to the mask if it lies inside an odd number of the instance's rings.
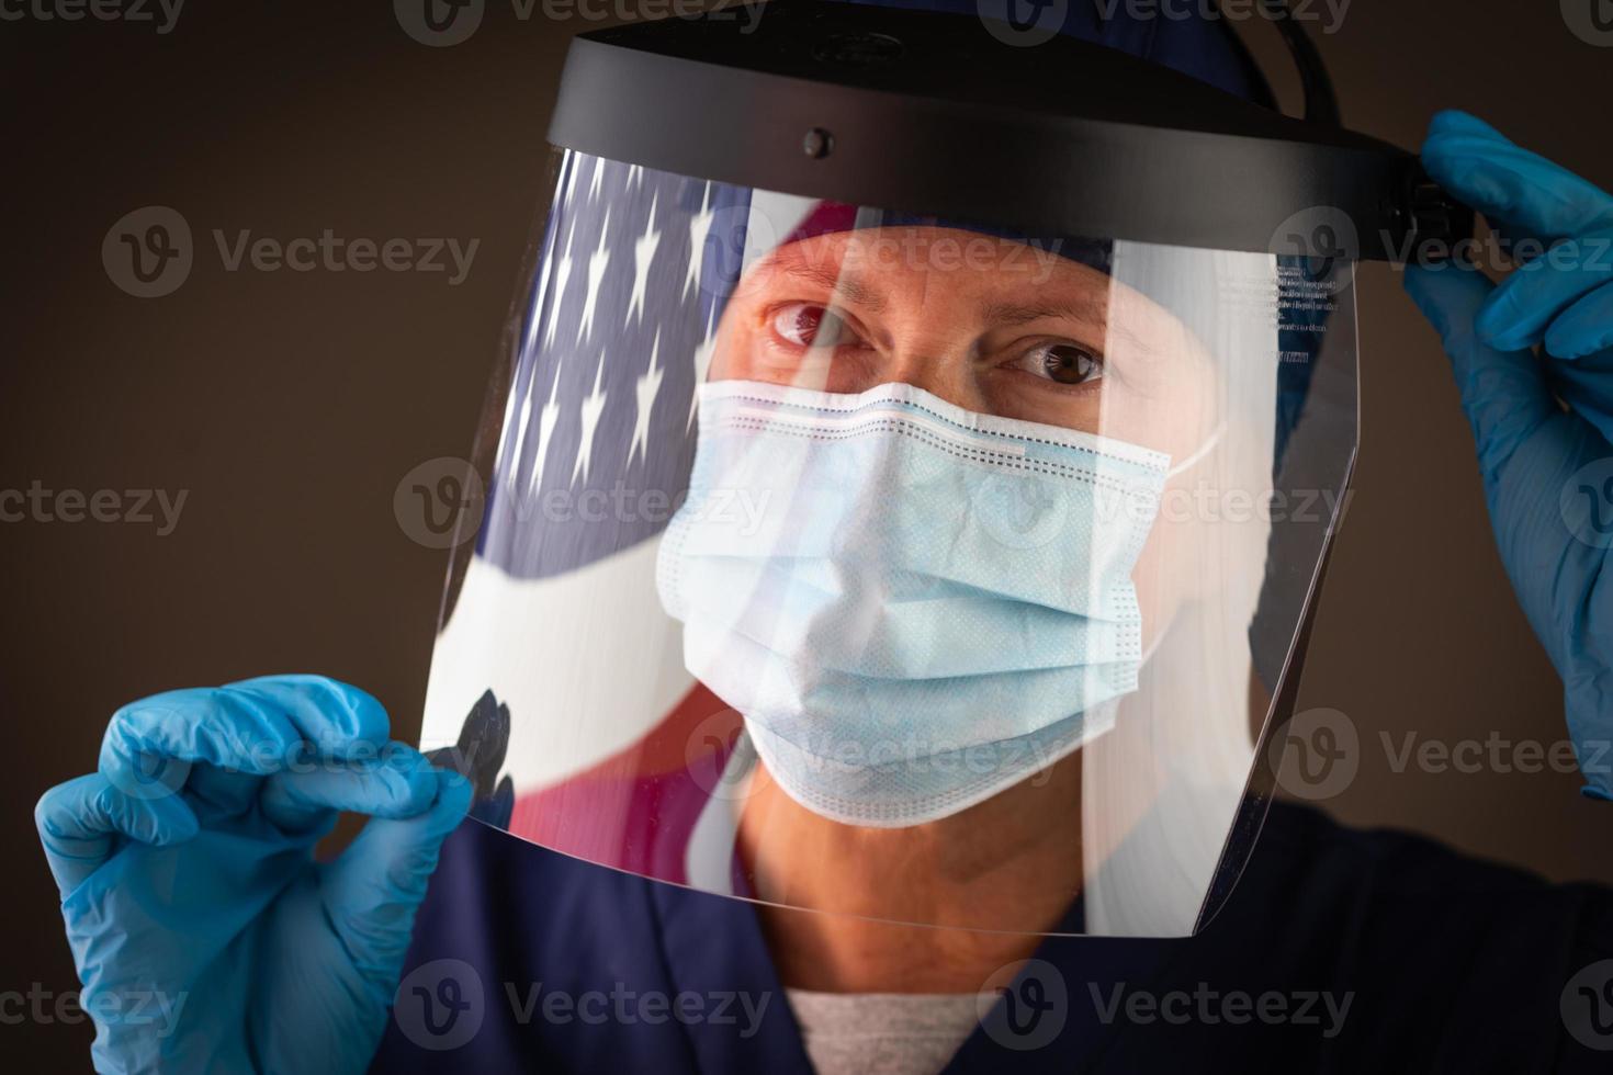
[[1502,561],[1563,677],[1584,791],[1608,799],[1613,197],[1458,111],[1434,118],[1423,163],[1519,253],[1550,247],[1498,287],[1455,263],[1408,269],[1405,285],[1455,367]]

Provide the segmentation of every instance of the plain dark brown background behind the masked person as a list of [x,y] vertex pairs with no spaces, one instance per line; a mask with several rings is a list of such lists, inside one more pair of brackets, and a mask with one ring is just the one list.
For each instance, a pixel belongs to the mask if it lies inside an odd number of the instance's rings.
[[[1084,0],[1073,0],[1084,2]],[[518,21],[426,48],[390,5],[203,3],[174,31],[0,24],[6,116],[0,488],[189,490],[179,527],[0,524],[5,638],[0,993],[74,986],[29,812],[94,766],[126,699],[276,670],[374,691],[418,720],[445,558],[392,492],[463,454],[540,190],[566,39]],[[1248,37],[1292,100],[1269,26]],[[1613,182],[1613,48],[1555,3],[1357,0],[1319,40],[1345,118],[1415,147],[1461,105]],[[197,263],[173,295],[111,285],[119,216],[169,205]],[[226,272],[211,230],[479,239],[469,279]],[[1563,737],[1560,687],[1494,551],[1466,424],[1432,332],[1384,266],[1363,271],[1363,446],[1303,706],[1342,709],[1360,775],[1329,803],[1555,878],[1613,882],[1613,814],[1561,774],[1392,772],[1379,732]],[[1397,740],[1398,741],[1398,740]],[[0,1025],[0,1056],[82,1067],[87,1027]],[[48,1051],[48,1052],[47,1052]],[[48,1059],[47,1059],[48,1056]]]

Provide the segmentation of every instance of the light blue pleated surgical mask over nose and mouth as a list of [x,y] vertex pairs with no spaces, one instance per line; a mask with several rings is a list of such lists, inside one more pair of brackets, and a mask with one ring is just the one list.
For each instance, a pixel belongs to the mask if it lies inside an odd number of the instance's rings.
[[660,598],[790,798],[918,825],[1113,724],[1168,456],[908,384],[719,380],[698,408]]

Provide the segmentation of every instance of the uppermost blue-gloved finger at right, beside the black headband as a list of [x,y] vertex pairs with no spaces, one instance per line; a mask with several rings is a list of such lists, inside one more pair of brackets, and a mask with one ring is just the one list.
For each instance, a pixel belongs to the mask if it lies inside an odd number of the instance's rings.
[[1466,113],[1434,116],[1423,166],[1439,185],[1492,222],[1544,240],[1613,224],[1613,197],[1566,168],[1508,142]]

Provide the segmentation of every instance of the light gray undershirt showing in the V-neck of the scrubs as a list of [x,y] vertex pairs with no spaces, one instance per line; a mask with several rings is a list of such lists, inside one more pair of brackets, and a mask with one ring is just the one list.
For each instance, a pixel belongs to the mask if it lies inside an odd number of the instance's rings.
[[936,1075],[979,1027],[974,993],[786,994],[818,1075]]

